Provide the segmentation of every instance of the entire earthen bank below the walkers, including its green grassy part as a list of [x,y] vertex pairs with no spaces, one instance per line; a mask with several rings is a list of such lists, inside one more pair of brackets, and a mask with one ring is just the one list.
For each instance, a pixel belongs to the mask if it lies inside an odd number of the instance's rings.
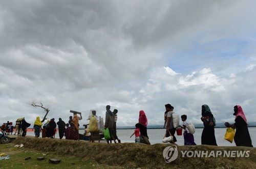
[[[217,147],[217,146],[178,146],[178,158],[166,163],[163,150],[170,144],[144,145],[135,143],[105,144],[87,143],[74,140],[42,139],[42,138],[17,138],[15,144],[24,144],[24,150],[18,150],[12,157],[12,163],[6,165],[26,165],[26,168],[42,168],[37,156],[47,153],[50,157],[58,157],[60,164],[49,164],[44,161],[44,168],[256,168],[256,148],[247,147]],[[3,145],[1,145],[3,146]],[[12,148],[5,148],[5,150]],[[182,157],[181,151],[250,151],[248,158],[218,157],[218,158],[188,158]],[[31,161],[24,161],[32,153]],[[39,154],[37,154],[39,153]],[[19,155],[18,155],[19,154]],[[20,154],[26,154],[20,156]],[[17,156],[16,156],[17,155]],[[31,162],[31,163],[30,163]],[[0,162],[2,166],[3,161]],[[25,164],[23,164],[25,163]],[[75,164],[74,164],[75,163]],[[15,164],[16,165],[16,164]],[[37,165],[35,167],[35,165]],[[0,167],[1,168],[1,167]],[[25,167],[23,167],[25,168]]]

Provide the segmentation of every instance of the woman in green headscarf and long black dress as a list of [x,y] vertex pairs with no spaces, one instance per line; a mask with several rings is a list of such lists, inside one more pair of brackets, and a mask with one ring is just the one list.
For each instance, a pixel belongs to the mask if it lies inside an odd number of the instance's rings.
[[208,105],[202,105],[202,122],[204,123],[204,129],[202,132],[201,143],[202,145],[217,146],[215,138],[215,118],[212,115]]

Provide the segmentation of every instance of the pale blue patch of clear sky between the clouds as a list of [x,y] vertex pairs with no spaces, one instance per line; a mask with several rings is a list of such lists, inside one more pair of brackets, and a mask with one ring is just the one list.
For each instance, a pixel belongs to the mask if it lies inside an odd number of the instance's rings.
[[[198,37],[197,37],[198,38]],[[221,39],[202,42],[200,38],[191,42],[189,48],[172,53],[169,51],[168,66],[180,73],[212,67],[219,73],[240,71],[237,67],[245,67],[251,59],[245,55],[247,47],[251,45],[249,39]],[[228,70],[227,69],[232,69]],[[221,72],[220,70],[224,70]]]

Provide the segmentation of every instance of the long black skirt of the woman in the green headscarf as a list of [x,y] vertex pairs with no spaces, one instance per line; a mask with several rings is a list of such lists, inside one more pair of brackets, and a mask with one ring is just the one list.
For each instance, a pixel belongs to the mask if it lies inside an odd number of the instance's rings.
[[204,127],[202,136],[201,136],[202,145],[212,145],[217,146],[215,131],[213,126]]

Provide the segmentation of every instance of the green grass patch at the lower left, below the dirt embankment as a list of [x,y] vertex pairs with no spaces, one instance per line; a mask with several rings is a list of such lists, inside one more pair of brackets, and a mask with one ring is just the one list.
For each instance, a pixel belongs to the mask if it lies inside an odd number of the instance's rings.
[[[58,156],[47,154],[45,160],[38,161],[37,157],[44,156],[44,152],[36,152],[26,150],[25,148],[15,148],[12,144],[0,144],[0,154],[6,153],[10,155],[8,160],[0,160],[0,169],[4,168],[119,168],[118,166],[99,165],[94,161],[84,160],[72,156]],[[30,160],[25,160],[31,157]],[[61,160],[59,164],[49,163],[50,158],[58,158]]]

